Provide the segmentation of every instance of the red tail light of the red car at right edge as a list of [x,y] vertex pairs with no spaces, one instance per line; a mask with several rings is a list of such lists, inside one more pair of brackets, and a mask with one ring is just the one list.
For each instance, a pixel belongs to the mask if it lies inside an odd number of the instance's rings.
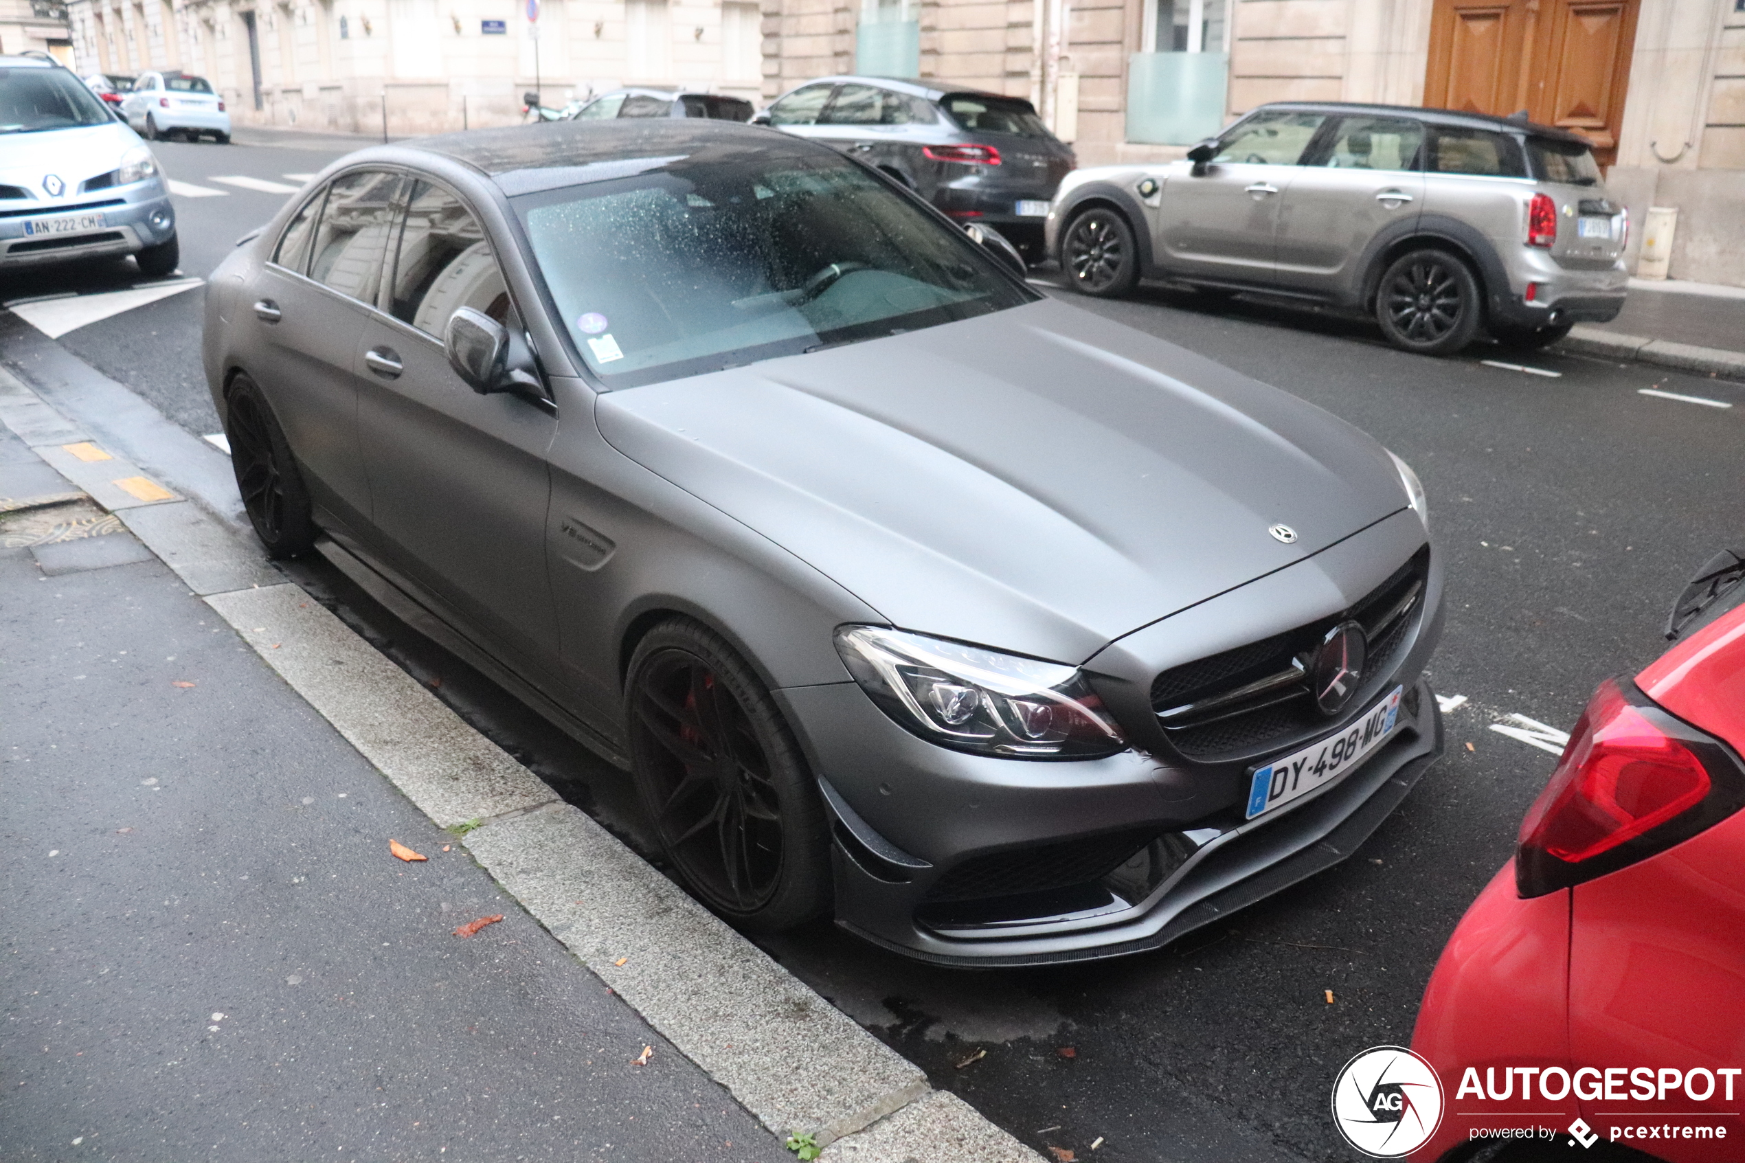
[[1726,745],[1609,678],[1522,821],[1515,886],[1522,896],[1544,896],[1591,881],[1742,806],[1745,771]]

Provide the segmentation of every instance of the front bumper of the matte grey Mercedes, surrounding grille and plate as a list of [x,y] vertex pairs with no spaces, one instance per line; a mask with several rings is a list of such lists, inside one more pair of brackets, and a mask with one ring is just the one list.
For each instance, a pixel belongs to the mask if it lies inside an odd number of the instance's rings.
[[[1258,638],[1272,633],[1258,610],[1298,624],[1349,605],[1377,584],[1379,563],[1412,556],[1422,537],[1406,511],[1323,551],[1319,565],[1310,558],[1164,619],[1092,664],[1119,677],[1131,663],[1148,687],[1169,661],[1187,661],[1169,659],[1169,650],[1194,657],[1201,633],[1218,633],[1218,622]],[[1419,678],[1440,616],[1433,570],[1410,645],[1377,677],[1379,687],[1406,687],[1389,743],[1345,778],[1253,821],[1241,807],[1246,758],[1190,764],[1141,750],[1084,762],[965,755],[909,734],[855,684],[778,690],[832,807],[838,922],[935,964],[1091,961],[1157,949],[1345,860],[1441,752],[1440,711]],[[1129,663],[1110,659],[1115,652]],[[1366,694],[1324,734],[1345,729],[1377,697]],[[1115,706],[1108,692],[1105,703]],[[1129,729],[1129,739],[1134,734]],[[1073,872],[1038,888],[1037,877],[1057,867]],[[1071,881],[1078,870],[1082,881]],[[965,882],[981,875],[1010,879],[965,894]]]

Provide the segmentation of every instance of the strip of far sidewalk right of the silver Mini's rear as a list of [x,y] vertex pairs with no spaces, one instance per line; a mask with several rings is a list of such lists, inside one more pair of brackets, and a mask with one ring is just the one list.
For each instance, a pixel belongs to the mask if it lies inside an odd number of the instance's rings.
[[1745,288],[1630,279],[1616,319],[1579,324],[1558,347],[1745,378]]

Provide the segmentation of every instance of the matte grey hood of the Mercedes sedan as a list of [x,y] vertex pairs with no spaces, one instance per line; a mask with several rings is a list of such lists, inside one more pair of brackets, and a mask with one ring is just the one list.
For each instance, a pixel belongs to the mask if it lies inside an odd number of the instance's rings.
[[1068,663],[1405,507],[1358,429],[1054,300],[595,415],[892,624]]

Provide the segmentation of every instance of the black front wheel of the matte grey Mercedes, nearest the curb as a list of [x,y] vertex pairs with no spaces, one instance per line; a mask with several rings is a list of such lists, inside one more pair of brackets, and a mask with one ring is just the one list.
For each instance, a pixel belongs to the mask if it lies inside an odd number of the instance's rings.
[[721,635],[675,617],[625,680],[630,769],[667,858],[728,922],[777,933],[831,905],[824,797],[782,711]]

